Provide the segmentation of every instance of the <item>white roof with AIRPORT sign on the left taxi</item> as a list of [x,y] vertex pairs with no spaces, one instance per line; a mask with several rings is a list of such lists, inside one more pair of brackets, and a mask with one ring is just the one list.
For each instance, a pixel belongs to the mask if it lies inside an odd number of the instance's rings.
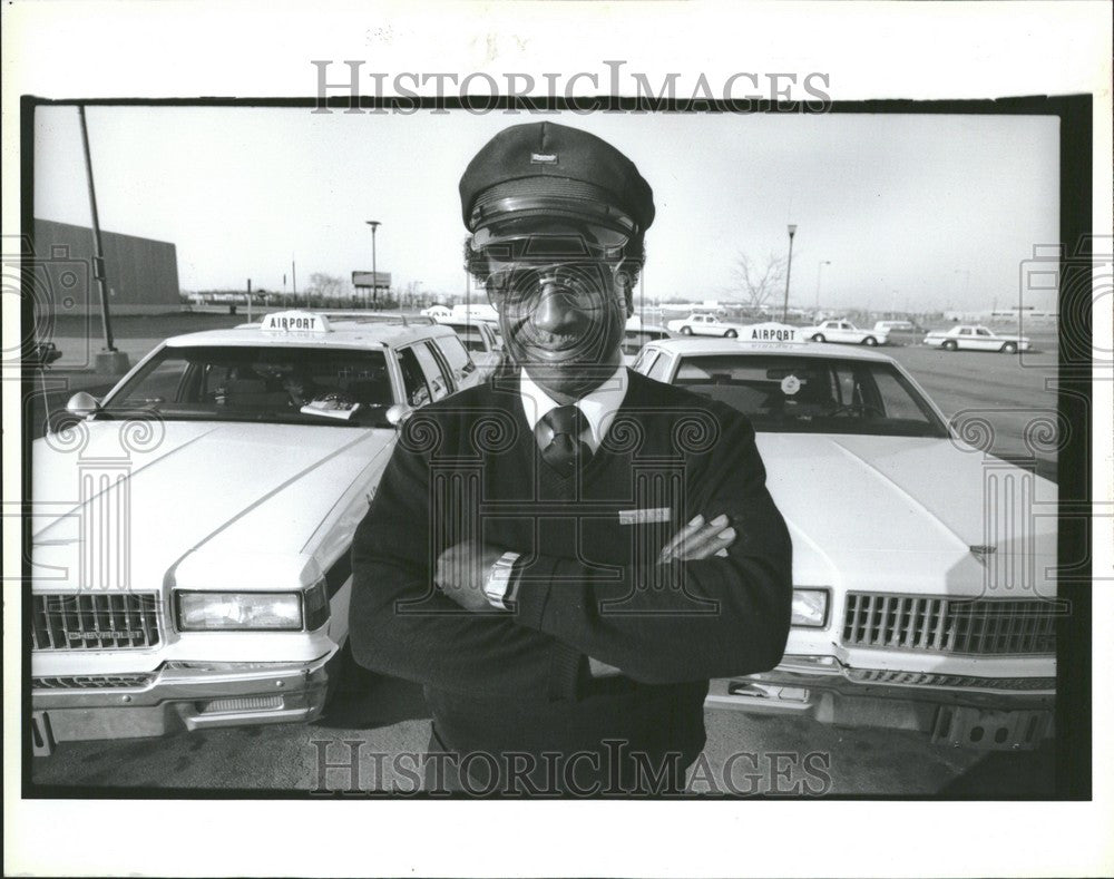
[[[306,329],[309,328],[309,329]],[[359,318],[328,318],[312,311],[273,312],[260,323],[231,330],[202,330],[167,339],[168,348],[199,345],[261,348],[398,348],[420,339],[452,335],[450,326],[430,323],[405,324]]]

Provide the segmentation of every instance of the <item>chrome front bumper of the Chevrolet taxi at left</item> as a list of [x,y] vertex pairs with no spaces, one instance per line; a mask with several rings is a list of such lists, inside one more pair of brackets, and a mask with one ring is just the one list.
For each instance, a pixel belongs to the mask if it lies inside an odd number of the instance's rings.
[[95,678],[85,678],[80,687],[32,688],[33,751],[49,754],[55,742],[311,721],[325,704],[328,658],[266,666],[164,666],[144,686],[100,688]]

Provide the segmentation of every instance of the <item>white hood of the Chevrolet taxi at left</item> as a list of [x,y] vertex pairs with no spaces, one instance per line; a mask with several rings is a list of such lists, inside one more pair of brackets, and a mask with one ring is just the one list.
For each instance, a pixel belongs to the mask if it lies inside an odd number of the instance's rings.
[[[343,511],[341,499],[385,465],[397,436],[172,421],[150,432],[133,427],[129,437],[129,423],[84,422],[80,448],[57,434],[33,445],[39,585],[157,588],[187,557],[251,556],[264,570],[268,558],[302,558],[322,524]],[[96,558],[106,567],[98,570]]]

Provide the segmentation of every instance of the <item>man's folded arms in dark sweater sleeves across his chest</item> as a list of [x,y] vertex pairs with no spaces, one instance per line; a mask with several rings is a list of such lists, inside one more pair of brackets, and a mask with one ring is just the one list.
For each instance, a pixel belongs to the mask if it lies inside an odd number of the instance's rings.
[[[712,488],[696,507],[710,521],[675,534],[656,565],[618,576],[535,556],[515,613],[494,611],[483,595],[501,548],[457,544],[429,555],[428,462],[397,451],[353,546],[358,661],[433,686],[504,693],[546,680],[540,633],[593,657],[597,671],[610,666],[645,683],[772,667],[789,632],[789,535],[750,426],[736,423],[722,440],[724,451],[702,473]],[[440,586],[433,594],[430,570]],[[408,613],[402,603],[418,598],[422,613]]]

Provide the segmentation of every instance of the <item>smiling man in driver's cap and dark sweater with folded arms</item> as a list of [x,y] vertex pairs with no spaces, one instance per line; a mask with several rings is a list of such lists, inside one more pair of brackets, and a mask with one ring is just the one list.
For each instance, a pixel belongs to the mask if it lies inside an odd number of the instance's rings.
[[510,363],[404,423],[353,545],[353,654],[423,685],[433,788],[683,790],[709,678],[789,632],[754,431],[623,367],[654,202],[615,147],[514,126],[460,196]]

